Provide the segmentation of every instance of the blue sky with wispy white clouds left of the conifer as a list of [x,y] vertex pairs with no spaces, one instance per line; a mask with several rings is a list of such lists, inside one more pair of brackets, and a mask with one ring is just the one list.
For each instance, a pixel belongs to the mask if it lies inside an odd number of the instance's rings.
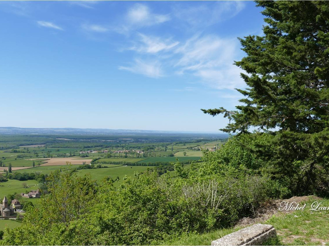
[[0,2],[0,126],[216,132],[251,1]]

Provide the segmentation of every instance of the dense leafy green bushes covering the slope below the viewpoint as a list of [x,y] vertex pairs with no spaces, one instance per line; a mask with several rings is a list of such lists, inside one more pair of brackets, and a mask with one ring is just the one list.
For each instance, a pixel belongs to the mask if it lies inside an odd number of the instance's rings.
[[[117,190],[109,179],[97,185],[89,176],[77,177],[71,168],[53,173],[47,179],[50,194],[29,209],[21,227],[7,229],[3,243],[156,244],[184,232],[231,226],[252,215],[262,201],[284,194],[276,181],[250,171],[243,160],[237,168],[225,148],[232,146],[223,147],[221,155],[206,152],[203,163],[193,162],[190,169],[176,162],[178,179],[159,177],[164,166],[158,166],[156,172],[135,173],[133,180],[123,178]],[[221,171],[217,169],[225,162],[216,165],[218,155],[227,161]]]

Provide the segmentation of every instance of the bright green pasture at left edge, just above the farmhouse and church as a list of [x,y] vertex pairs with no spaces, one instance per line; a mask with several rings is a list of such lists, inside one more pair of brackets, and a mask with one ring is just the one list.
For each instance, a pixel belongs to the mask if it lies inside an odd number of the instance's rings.
[[[26,183],[30,186],[30,188],[24,188],[23,183]],[[1,182],[0,183],[0,198],[3,198],[4,196],[7,196],[8,194],[13,193],[21,193],[26,190],[36,190],[38,189],[38,182],[36,180],[26,180],[26,181],[19,181],[19,180],[8,180],[7,182]],[[33,199],[30,199],[33,200]]]

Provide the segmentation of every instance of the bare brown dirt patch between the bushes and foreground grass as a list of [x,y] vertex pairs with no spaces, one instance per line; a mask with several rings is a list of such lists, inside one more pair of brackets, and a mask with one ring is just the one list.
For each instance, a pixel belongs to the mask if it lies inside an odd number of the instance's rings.
[[269,218],[271,218],[274,214],[277,213],[292,213],[293,210],[284,210],[280,211],[280,203],[282,201],[286,201],[287,203],[296,202],[297,204],[301,204],[309,201],[310,199],[322,200],[322,198],[317,196],[293,196],[290,199],[278,199],[278,200],[270,200],[263,203],[258,209],[255,210],[255,215],[251,217],[244,217],[238,221],[235,227],[244,227],[250,226],[256,223],[263,223]]

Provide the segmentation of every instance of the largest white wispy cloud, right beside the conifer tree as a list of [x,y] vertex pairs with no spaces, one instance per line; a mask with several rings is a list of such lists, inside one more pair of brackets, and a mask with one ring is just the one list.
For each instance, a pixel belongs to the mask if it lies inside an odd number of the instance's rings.
[[191,73],[201,83],[216,89],[241,87],[242,70],[232,64],[237,57],[237,44],[236,39],[194,36],[175,51],[181,56],[174,66],[178,68],[176,73]]

